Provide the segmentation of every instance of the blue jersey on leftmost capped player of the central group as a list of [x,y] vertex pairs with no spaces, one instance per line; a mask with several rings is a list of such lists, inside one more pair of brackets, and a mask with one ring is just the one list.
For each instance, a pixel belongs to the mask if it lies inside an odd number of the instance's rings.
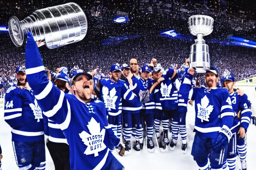
[[100,80],[100,99],[105,103],[107,113],[117,116],[122,113],[122,99],[133,100],[135,94],[125,84],[125,81],[113,82],[110,79]]

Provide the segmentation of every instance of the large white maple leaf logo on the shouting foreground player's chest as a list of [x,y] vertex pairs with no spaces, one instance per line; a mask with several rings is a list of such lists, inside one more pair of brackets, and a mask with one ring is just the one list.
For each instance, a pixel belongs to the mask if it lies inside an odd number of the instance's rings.
[[97,123],[94,118],[88,122],[87,125],[91,134],[87,133],[86,131],[82,131],[79,133],[80,138],[87,146],[84,154],[90,155],[94,154],[94,157],[99,156],[100,151],[106,148],[106,145],[103,143],[105,137],[105,129],[100,131],[100,123]]

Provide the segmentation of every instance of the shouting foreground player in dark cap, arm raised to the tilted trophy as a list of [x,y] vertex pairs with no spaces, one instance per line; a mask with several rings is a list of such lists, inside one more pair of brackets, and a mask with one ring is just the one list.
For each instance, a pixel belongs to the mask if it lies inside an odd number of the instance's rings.
[[69,144],[70,169],[123,169],[110,152],[118,146],[120,139],[108,124],[104,103],[99,100],[90,102],[88,84],[92,76],[88,73],[74,75],[71,79],[74,95],[65,94],[47,79],[31,32],[28,33],[25,56],[28,82],[43,114],[59,124]]

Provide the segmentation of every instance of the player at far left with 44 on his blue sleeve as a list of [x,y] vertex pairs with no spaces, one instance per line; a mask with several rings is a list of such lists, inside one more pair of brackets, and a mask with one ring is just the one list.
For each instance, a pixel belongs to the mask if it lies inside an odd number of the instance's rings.
[[31,90],[25,70],[17,72],[18,87],[5,95],[4,119],[12,128],[12,145],[19,169],[45,169],[42,110]]

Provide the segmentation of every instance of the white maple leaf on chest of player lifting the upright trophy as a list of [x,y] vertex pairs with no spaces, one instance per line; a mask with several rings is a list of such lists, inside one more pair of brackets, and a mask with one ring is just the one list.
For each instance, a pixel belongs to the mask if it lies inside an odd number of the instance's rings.
[[206,95],[201,99],[201,105],[200,103],[197,104],[197,117],[201,119],[201,122],[207,121],[209,122],[210,114],[213,111],[213,106],[209,105],[209,99],[206,97]]

